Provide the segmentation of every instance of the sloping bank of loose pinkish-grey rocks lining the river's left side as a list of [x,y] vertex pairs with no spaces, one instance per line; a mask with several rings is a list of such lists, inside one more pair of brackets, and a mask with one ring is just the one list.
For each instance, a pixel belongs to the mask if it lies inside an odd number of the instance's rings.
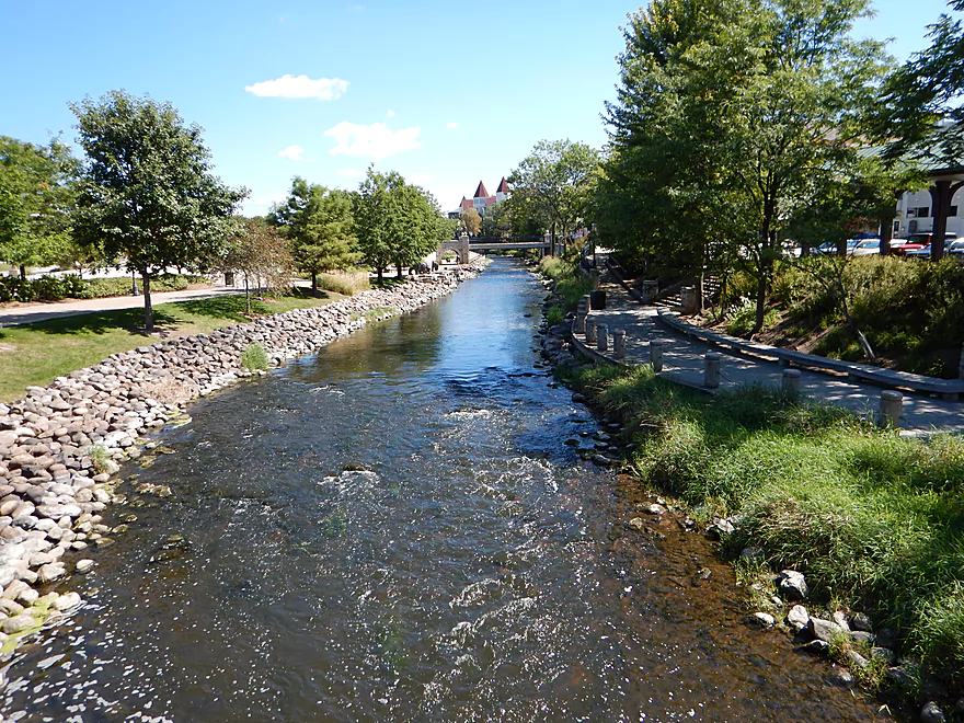
[[9,653],[24,635],[82,604],[77,593],[56,588],[71,572],[94,565],[84,550],[108,546],[111,535],[123,532],[123,526],[104,525],[101,513],[123,501],[113,482],[120,462],[140,456],[142,433],[163,427],[198,397],[265,374],[242,367],[245,352],[246,359],[280,365],[369,321],[445,296],[479,271],[481,265],[141,346],[0,404],[0,650]]

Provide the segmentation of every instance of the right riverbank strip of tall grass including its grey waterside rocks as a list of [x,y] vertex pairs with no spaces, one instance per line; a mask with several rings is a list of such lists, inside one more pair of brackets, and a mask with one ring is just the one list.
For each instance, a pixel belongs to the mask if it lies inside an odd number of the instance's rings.
[[572,355],[566,325],[547,329],[543,356],[619,429],[584,457],[673,495],[721,541],[749,624],[920,720],[964,714],[964,440],[900,438],[765,389],[709,397],[649,367],[593,366]]

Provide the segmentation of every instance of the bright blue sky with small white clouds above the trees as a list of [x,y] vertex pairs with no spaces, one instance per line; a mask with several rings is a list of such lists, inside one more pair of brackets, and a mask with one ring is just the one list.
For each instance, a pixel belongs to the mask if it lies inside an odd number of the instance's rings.
[[[540,139],[606,141],[631,2],[85,3],[0,0],[0,135],[73,139],[69,102],[123,88],[205,128],[248,214],[292,176],[345,188],[369,163],[445,210],[490,193]],[[927,46],[944,0],[877,0],[861,37]],[[11,28],[20,28],[11,32]]]

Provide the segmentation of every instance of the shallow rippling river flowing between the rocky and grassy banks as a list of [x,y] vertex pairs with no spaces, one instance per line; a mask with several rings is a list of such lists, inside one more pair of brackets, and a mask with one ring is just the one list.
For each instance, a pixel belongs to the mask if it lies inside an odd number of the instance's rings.
[[[21,650],[24,721],[869,721],[744,623],[699,532],[564,444],[541,285],[452,297],[196,404],[122,490],[87,605]],[[528,315],[527,315],[528,314]],[[168,485],[158,500],[137,490]],[[698,572],[709,569],[702,579]]]

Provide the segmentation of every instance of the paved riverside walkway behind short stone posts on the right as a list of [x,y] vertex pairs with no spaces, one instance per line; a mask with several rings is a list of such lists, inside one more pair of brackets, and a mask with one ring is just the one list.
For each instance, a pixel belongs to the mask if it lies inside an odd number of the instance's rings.
[[[782,385],[783,368],[779,364],[728,353],[666,329],[657,319],[656,307],[638,302],[608,274],[599,288],[606,291],[606,309],[592,311],[588,321],[608,324],[610,334],[618,329],[626,330],[626,362],[649,364],[649,340],[655,337],[664,343],[663,376],[687,386],[702,388],[703,355],[707,352],[718,352],[722,355],[721,389],[734,389],[754,383],[773,388],[780,388]],[[579,335],[578,338],[584,337]],[[844,375],[801,369],[801,391],[814,399],[839,404],[873,417],[880,409],[882,389],[848,379]],[[964,432],[964,402],[949,402],[905,392],[900,427],[916,434],[934,429]]]

